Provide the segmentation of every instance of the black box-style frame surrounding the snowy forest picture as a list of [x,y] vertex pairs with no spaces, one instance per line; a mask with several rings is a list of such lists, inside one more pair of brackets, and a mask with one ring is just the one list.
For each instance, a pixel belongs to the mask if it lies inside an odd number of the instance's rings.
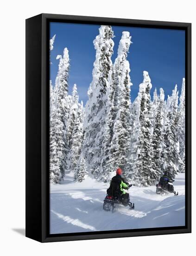
[[[49,233],[49,22],[185,30],[185,226]],[[191,232],[191,23],[42,13],[26,20],[26,236],[39,242],[152,236]]]

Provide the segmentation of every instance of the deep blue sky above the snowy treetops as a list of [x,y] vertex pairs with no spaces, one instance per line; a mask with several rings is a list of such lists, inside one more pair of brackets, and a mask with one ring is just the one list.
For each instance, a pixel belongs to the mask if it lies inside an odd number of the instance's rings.
[[[58,71],[58,54],[63,54],[65,47],[70,55],[69,93],[74,83],[78,88],[79,100],[84,104],[88,100],[87,91],[92,81],[95,48],[93,40],[99,34],[98,25],[84,25],[71,23],[50,24],[50,38],[56,34],[54,49],[51,51],[52,84]],[[118,27],[114,30],[114,63],[117,57],[118,44],[123,31],[129,31],[132,42],[127,60],[130,63],[131,101],[137,97],[139,84],[143,81],[143,71],[148,71],[152,81],[151,94],[155,88],[164,89],[165,96],[171,94],[175,84],[181,89],[182,79],[185,76],[185,32],[183,30]]]

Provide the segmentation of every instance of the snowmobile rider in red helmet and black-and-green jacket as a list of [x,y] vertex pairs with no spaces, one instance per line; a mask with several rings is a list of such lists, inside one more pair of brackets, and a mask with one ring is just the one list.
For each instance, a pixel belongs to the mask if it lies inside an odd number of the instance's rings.
[[124,189],[130,188],[132,185],[127,183],[125,179],[121,176],[122,169],[118,168],[116,170],[116,175],[112,178],[110,182],[109,189],[107,189],[107,194],[112,196],[119,196],[121,195],[121,202],[125,202],[129,198],[129,194],[126,193]]

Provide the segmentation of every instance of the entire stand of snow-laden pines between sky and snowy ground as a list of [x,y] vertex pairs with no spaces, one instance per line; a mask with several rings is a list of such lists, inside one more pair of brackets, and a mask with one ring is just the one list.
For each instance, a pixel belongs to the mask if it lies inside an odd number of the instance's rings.
[[[127,54],[129,32],[123,32],[118,55],[111,61],[114,33],[101,26],[94,40],[96,58],[89,100],[78,102],[77,87],[68,95],[70,60],[67,48],[59,59],[55,86],[50,81],[50,178],[60,183],[65,170],[82,182],[87,175],[107,182],[121,167],[133,184],[150,186],[165,171],[171,178],[185,169],[185,80],[178,104],[177,86],[164,100],[144,71],[143,83],[131,104]],[[50,40],[53,49],[55,35]]]

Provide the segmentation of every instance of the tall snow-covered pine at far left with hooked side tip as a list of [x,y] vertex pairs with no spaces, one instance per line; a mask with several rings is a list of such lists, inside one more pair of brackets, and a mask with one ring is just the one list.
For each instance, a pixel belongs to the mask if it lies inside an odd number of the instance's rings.
[[69,112],[67,103],[70,67],[68,49],[65,48],[63,57],[58,55],[57,59],[60,59],[56,79],[57,106],[52,111],[50,120],[50,179],[55,183],[59,183],[64,177],[66,158],[69,151],[65,137]]

